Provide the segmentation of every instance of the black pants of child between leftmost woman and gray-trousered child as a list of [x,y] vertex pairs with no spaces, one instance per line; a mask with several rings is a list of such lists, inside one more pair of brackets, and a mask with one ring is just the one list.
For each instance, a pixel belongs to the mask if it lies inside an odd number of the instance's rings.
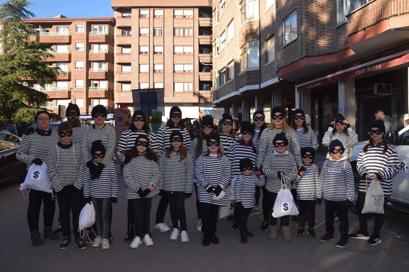
[[81,212],[82,205],[82,190],[76,190],[75,192],[57,192],[57,201],[59,211],[59,220],[61,223],[61,229],[63,230],[63,236],[70,237],[71,225],[70,225],[70,210],[72,213],[72,232],[75,238],[79,237],[78,231],[78,219]]

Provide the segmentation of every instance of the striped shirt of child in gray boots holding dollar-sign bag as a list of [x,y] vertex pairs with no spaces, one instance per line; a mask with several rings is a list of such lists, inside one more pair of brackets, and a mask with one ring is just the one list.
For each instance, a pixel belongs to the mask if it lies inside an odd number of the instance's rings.
[[[297,163],[294,155],[288,150],[283,154],[276,153],[275,150],[268,153],[263,161],[263,174],[265,175],[265,188],[270,192],[279,192],[281,188],[291,190],[291,182],[297,175]],[[277,174],[277,171],[284,173],[284,180]]]

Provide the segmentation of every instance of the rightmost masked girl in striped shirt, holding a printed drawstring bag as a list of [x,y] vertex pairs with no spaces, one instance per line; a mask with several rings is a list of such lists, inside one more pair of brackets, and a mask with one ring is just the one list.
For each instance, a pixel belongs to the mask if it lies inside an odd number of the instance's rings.
[[[381,242],[380,231],[384,221],[384,214],[375,213],[375,226],[372,235],[369,236],[368,224],[366,222],[366,213],[362,213],[366,196],[366,183],[368,186],[371,181],[378,179],[384,192],[384,209],[386,208],[387,197],[390,197],[392,191],[392,179],[399,172],[400,164],[398,153],[385,138],[385,125],[382,120],[375,120],[369,124],[369,134],[371,139],[369,143],[362,148],[358,155],[357,171],[362,177],[359,183],[359,195],[357,200],[357,212],[360,222],[360,229],[349,234],[353,239],[368,240],[369,245],[376,245]],[[367,179],[367,182],[365,180]]]

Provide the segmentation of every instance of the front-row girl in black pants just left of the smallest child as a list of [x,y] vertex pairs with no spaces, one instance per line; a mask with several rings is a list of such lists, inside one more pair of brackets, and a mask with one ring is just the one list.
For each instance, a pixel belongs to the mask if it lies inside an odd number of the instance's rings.
[[[231,177],[229,159],[220,150],[220,135],[212,133],[207,137],[208,152],[196,160],[200,214],[202,216],[202,245],[219,243],[216,224],[219,206],[227,206],[227,184]],[[220,194],[225,194],[217,199]],[[216,197],[216,199],[215,199]]]

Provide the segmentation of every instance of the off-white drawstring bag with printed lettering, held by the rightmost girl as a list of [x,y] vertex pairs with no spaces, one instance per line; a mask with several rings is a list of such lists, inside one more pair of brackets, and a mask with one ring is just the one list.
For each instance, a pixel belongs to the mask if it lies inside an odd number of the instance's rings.
[[384,192],[378,179],[372,180],[368,187],[368,179],[365,180],[366,196],[362,213],[385,213]]

